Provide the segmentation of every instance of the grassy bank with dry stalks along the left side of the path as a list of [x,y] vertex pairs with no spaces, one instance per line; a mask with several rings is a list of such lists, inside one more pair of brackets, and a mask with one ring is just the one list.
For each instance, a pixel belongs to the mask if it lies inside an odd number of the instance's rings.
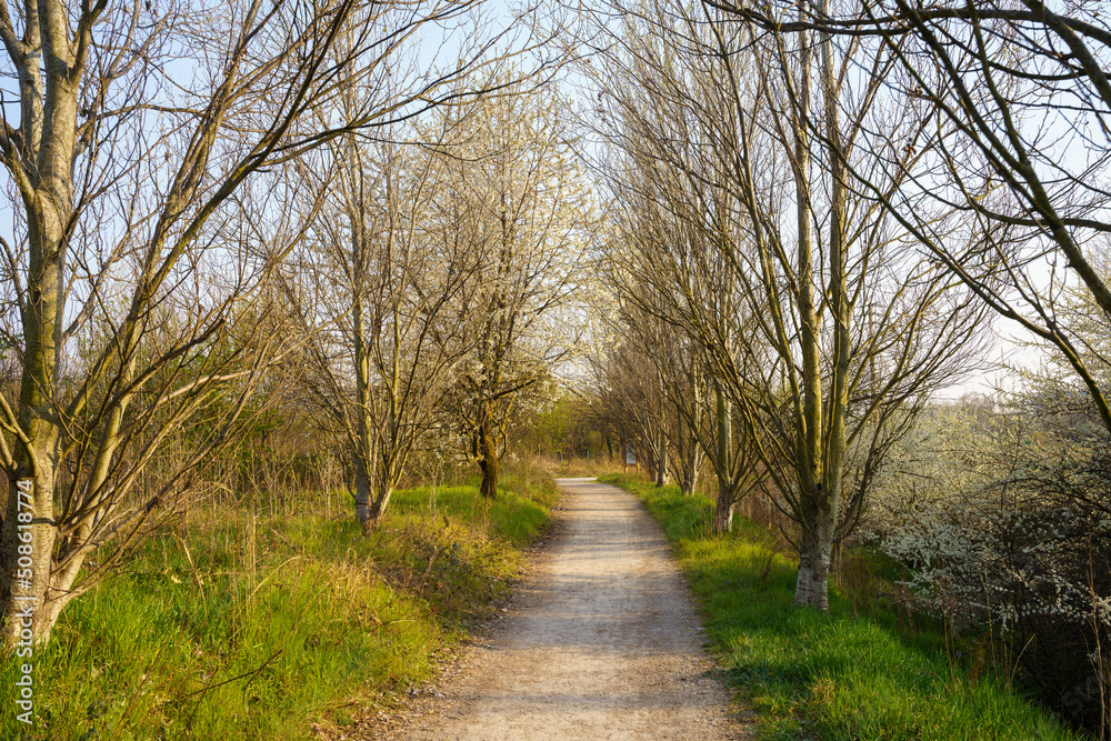
[[9,700],[0,738],[334,735],[427,682],[508,591],[558,492],[507,479],[489,504],[473,485],[398,492],[370,537],[323,494],[191,512],[67,609],[34,657],[37,723]]

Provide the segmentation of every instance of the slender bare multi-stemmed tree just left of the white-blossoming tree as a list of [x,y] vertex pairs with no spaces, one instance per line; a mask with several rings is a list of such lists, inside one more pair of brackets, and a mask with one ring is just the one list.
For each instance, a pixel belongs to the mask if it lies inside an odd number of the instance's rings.
[[452,208],[443,134],[377,146],[346,137],[328,148],[328,167],[304,168],[336,209],[290,263],[287,294],[311,338],[308,387],[343,431],[364,528],[384,513],[423,434],[441,424],[469,349],[466,312],[483,256],[440,228],[437,213]]

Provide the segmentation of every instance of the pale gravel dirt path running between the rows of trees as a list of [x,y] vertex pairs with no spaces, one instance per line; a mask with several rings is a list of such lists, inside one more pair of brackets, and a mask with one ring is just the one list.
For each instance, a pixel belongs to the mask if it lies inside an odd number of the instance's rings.
[[560,531],[487,643],[383,739],[740,739],[698,617],[631,495],[562,479]]

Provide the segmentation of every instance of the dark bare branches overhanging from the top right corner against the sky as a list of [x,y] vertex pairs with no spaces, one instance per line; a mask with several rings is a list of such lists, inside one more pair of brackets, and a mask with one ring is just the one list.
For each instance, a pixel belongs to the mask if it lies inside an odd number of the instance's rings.
[[[1111,233],[1111,29],[1102,7],[892,0],[805,6],[784,24],[774,3],[713,4],[763,29],[881,40],[871,54],[899,67],[887,81],[892,104],[931,106],[921,136],[902,142],[924,156],[884,154],[885,132],[870,132],[883,170],[913,184],[887,193],[874,169],[848,172],[993,311],[1060,353],[1111,430],[1108,389],[1084,360],[1090,339],[1062,310],[1072,280],[1111,314],[1095,254]],[[954,222],[967,239],[952,239]]]

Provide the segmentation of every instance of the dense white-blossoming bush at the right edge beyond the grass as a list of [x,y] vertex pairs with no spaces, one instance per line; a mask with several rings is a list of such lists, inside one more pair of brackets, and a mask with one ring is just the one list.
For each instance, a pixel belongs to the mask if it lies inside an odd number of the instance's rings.
[[928,409],[863,530],[927,609],[1001,634],[1028,683],[1094,730],[1111,705],[1111,439],[1044,392]]

